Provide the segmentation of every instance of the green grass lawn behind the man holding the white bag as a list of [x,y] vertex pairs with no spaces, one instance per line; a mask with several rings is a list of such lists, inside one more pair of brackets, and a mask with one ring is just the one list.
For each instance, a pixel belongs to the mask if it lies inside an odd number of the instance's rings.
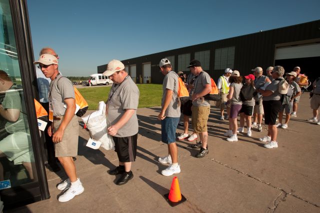
[[[154,107],[161,105],[162,85],[160,84],[137,84],[140,91],[138,108]],[[99,101],[106,101],[111,87],[92,87],[78,89],[88,102],[89,110],[96,110]]]

